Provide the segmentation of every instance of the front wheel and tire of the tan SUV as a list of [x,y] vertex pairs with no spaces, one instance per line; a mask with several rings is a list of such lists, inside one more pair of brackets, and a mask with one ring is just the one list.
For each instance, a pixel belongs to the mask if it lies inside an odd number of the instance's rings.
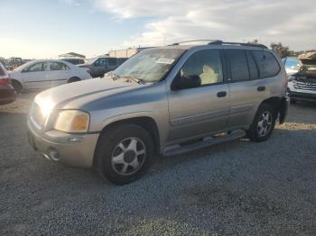
[[152,166],[153,160],[153,139],[138,125],[116,125],[98,139],[95,168],[112,184],[134,182]]

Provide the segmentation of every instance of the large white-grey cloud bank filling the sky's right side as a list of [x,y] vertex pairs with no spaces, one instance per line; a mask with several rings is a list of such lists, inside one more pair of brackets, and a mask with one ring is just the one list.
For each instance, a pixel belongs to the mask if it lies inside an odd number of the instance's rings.
[[269,44],[294,50],[316,48],[315,0],[95,0],[122,19],[150,17],[144,32],[125,46],[162,45],[189,39],[221,39]]

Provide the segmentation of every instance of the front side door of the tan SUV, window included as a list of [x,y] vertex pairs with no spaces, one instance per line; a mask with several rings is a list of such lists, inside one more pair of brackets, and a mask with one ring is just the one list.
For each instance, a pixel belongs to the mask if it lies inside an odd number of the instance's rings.
[[226,128],[229,113],[229,90],[223,76],[221,50],[194,52],[181,67],[177,79],[200,78],[200,85],[170,89],[169,142],[185,141]]

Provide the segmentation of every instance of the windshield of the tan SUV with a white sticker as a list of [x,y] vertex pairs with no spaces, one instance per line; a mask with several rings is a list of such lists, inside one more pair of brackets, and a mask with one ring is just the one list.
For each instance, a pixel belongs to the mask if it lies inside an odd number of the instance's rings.
[[157,82],[166,75],[185,50],[143,50],[114,71],[117,77],[136,77],[142,82]]

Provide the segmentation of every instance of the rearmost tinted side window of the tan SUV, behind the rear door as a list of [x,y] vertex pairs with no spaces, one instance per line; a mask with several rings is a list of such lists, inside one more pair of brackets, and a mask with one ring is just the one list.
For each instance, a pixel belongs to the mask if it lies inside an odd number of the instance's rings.
[[274,77],[280,71],[280,66],[271,52],[254,50],[254,58],[258,65],[260,77]]

